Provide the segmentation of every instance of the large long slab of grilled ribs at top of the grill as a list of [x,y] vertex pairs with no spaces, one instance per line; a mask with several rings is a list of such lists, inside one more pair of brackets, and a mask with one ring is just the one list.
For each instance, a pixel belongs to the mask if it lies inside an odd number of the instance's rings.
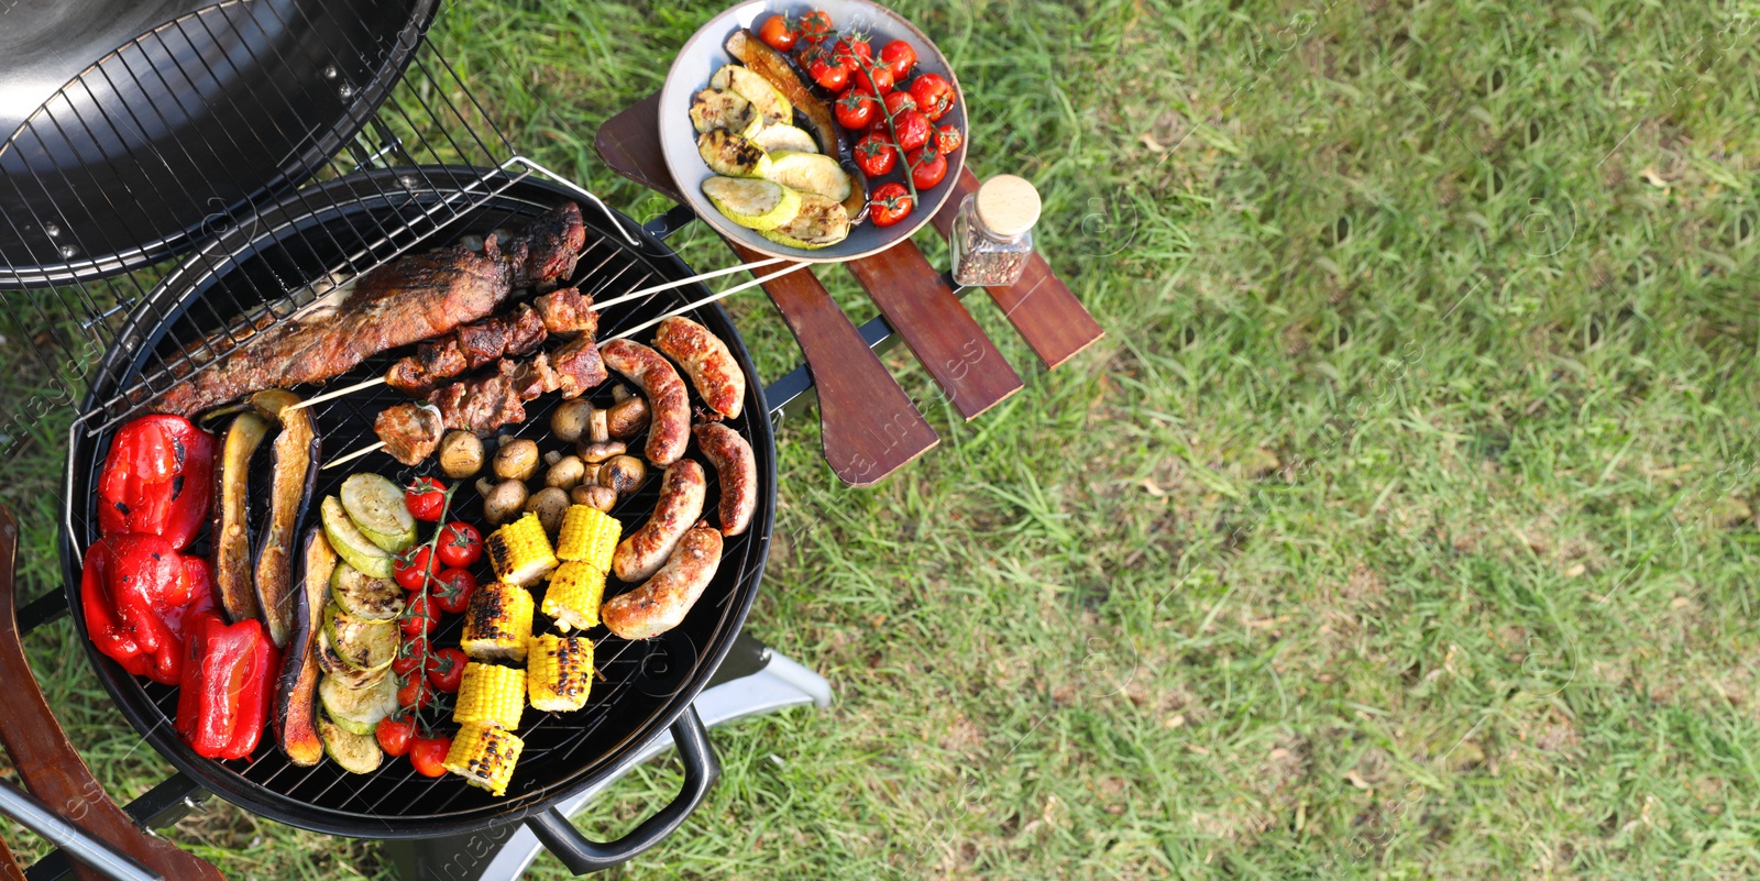
[[[482,318],[516,288],[554,288],[574,273],[584,244],[581,208],[570,202],[507,243],[486,237],[482,253],[459,244],[403,257],[326,294],[306,315],[253,334],[167,389],[153,410],[194,415],[264,389],[329,380],[387,348]],[[218,352],[225,339],[216,334],[208,345]]]

